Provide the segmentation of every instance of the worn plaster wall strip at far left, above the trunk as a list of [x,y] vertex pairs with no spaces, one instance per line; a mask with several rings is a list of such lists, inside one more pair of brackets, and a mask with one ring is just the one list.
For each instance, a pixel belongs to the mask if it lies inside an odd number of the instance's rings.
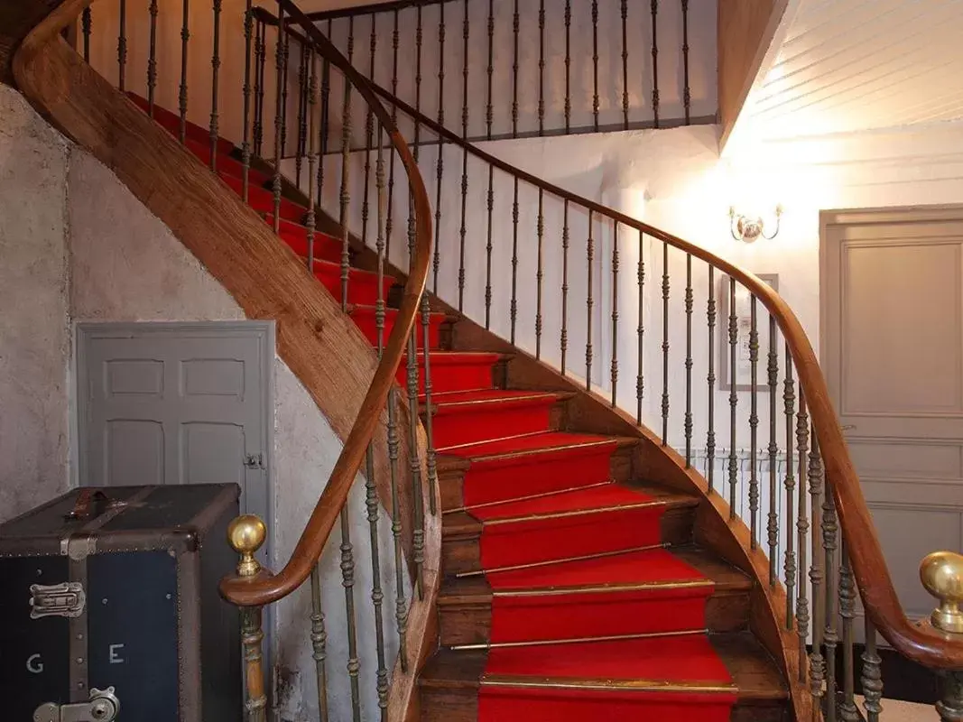
[[67,156],[0,84],[0,521],[67,483]]

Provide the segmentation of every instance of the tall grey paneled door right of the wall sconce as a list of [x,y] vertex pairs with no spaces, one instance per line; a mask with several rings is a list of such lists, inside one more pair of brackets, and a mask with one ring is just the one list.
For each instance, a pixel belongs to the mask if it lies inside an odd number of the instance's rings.
[[963,209],[823,214],[821,361],[903,607],[963,547]]

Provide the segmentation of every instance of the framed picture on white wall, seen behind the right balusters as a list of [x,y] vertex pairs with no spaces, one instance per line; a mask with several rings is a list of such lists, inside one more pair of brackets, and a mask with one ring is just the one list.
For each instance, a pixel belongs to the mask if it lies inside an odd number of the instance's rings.
[[[757,273],[759,278],[773,290],[779,290],[779,275],[776,273]],[[752,390],[752,361],[749,357],[749,340],[752,330],[752,297],[748,290],[740,283],[736,283],[735,304],[730,302],[732,289],[729,276],[723,275],[718,284],[718,309],[716,333],[718,334],[719,363],[718,384],[720,391],[732,389],[731,356],[732,346],[729,339],[730,314],[734,309],[736,316],[736,391]],[[769,314],[766,306],[756,301],[756,332],[759,337],[759,353],[756,361],[756,390],[768,392],[768,353],[769,353]],[[776,333],[776,343],[781,338]],[[783,349],[776,348],[780,361]]]

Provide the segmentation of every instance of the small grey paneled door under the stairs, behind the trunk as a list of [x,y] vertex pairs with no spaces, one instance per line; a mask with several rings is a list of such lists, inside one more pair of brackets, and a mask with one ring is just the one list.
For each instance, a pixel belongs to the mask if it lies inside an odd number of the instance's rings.
[[236,482],[269,519],[273,324],[82,323],[79,482]]

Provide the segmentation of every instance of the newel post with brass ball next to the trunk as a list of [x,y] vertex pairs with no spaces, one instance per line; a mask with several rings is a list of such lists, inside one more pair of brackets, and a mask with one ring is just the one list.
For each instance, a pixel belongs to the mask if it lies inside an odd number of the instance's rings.
[[[251,579],[262,573],[261,564],[254,554],[264,544],[268,528],[253,514],[244,514],[230,523],[227,541],[231,548],[241,554],[237,574]],[[266,722],[268,697],[264,689],[264,656],[261,645],[264,631],[261,629],[261,607],[241,607],[241,643],[244,645],[245,686],[247,698],[247,722]]]

